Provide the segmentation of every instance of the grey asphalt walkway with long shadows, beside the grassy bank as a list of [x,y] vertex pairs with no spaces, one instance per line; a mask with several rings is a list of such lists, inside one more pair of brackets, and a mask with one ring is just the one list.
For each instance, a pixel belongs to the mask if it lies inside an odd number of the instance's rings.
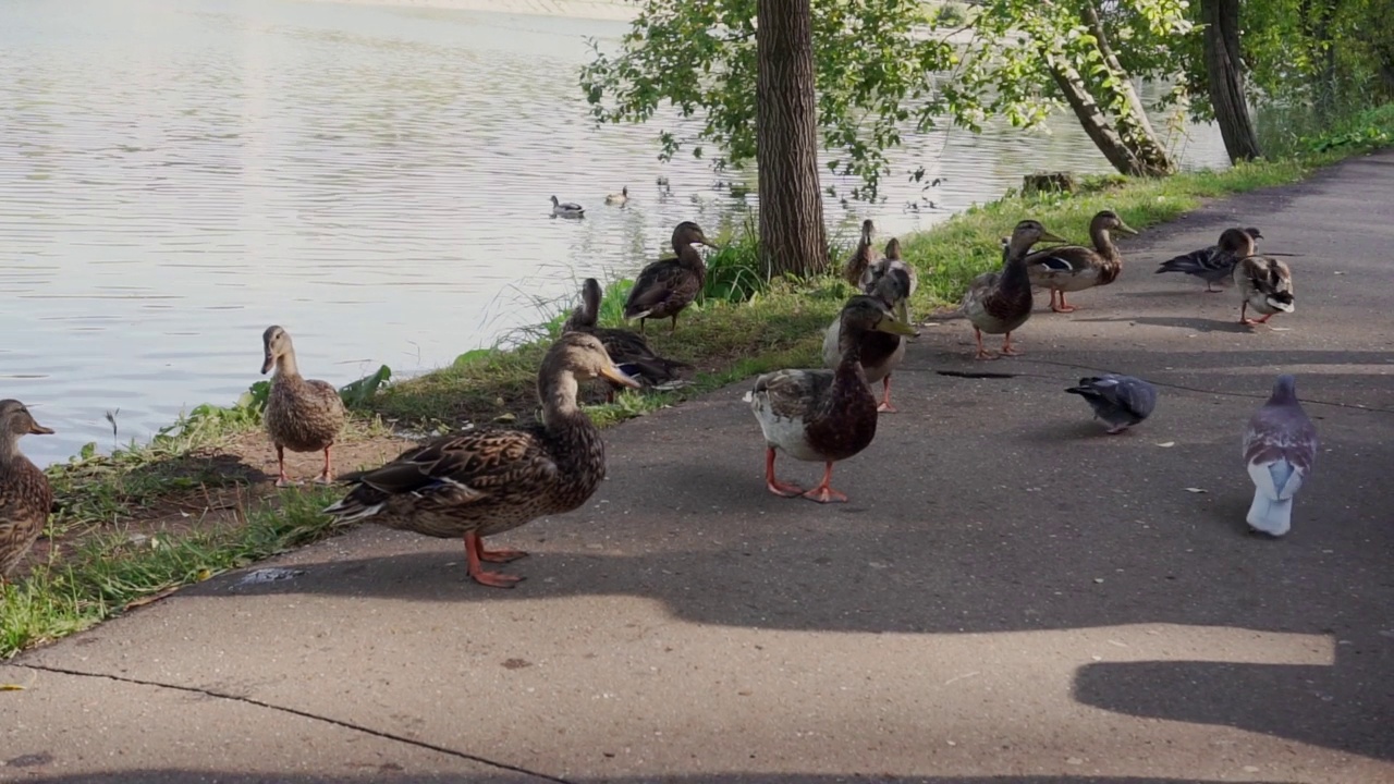
[[[848,505],[764,491],[740,384],[609,431],[513,591],[365,527],[33,651],[0,780],[1394,780],[1391,194],[1383,153],[1147,232],[1019,360],[927,329]],[[1302,254],[1277,329],[1151,275],[1235,223]],[[1103,368],[1153,420],[1100,434],[1062,389]],[[1323,452],[1271,541],[1239,434],[1280,371]]]

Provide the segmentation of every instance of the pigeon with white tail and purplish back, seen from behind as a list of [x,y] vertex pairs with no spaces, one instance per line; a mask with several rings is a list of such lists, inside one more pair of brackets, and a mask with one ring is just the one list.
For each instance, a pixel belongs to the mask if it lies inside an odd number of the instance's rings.
[[1280,375],[1273,396],[1243,432],[1243,462],[1253,480],[1249,527],[1282,536],[1292,527],[1292,497],[1316,462],[1316,425],[1298,403],[1296,379]]

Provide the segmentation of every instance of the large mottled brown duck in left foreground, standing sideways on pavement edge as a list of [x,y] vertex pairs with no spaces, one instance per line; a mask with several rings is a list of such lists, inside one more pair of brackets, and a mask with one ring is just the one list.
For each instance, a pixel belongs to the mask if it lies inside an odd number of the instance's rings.
[[576,405],[577,382],[608,378],[638,382],[615,367],[594,335],[567,332],[542,359],[537,377],[542,423],[527,430],[480,428],[445,435],[403,452],[390,463],[353,474],[348,495],[325,509],[340,520],[369,520],[439,538],[464,537],[470,578],[512,587],[521,578],[487,572],[527,555],[485,550],[482,537],[542,515],[570,512],[605,478],[601,432]]

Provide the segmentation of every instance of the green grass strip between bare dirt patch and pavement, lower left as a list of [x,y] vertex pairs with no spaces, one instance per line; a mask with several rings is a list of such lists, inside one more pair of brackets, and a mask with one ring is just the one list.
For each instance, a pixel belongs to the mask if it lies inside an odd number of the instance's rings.
[[336,497],[332,488],[287,490],[275,502],[241,511],[245,523],[237,526],[144,538],[118,532],[92,537],[74,557],[39,565],[26,579],[0,587],[0,660],[81,632],[132,601],[328,536],[335,523],[319,509]]

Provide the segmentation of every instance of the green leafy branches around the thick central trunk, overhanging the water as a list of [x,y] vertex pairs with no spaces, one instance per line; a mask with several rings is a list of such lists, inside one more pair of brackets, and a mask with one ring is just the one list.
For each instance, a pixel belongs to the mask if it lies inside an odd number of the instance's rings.
[[[1121,68],[1110,67],[1080,11],[1093,0],[988,0],[953,27],[930,20],[919,0],[814,0],[818,126],[834,174],[860,180],[853,198],[874,199],[887,153],[902,134],[945,120],[980,130],[988,116],[1041,123],[1058,103],[1047,47],[1104,91],[1105,112],[1125,109],[1129,75],[1178,68],[1168,40],[1189,29],[1182,0],[1135,0],[1105,14]],[[1092,7],[1092,6],[1090,6]],[[580,82],[599,123],[643,123],[665,106],[680,119],[659,131],[661,158],[690,146],[717,167],[756,158],[756,0],[644,0],[618,53],[601,52]],[[698,119],[696,131],[686,120]],[[923,167],[910,172],[919,180]]]

